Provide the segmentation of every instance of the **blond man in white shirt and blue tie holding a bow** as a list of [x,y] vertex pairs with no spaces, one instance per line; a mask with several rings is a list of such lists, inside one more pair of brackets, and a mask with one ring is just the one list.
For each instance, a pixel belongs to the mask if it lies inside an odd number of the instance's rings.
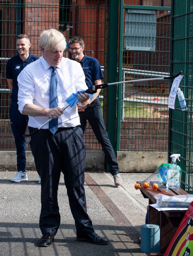
[[[30,140],[31,152],[41,176],[40,229],[43,235],[38,245],[51,245],[60,226],[57,191],[61,171],[75,220],[76,239],[102,245],[108,240],[94,232],[86,211],[86,151],[77,106],[62,110],[67,105],[65,99],[68,96],[87,89],[84,72],[80,64],[62,57],[66,40],[59,31],[43,31],[39,46],[43,55],[18,76],[19,111],[29,115],[29,125],[37,129],[53,118]],[[77,94],[77,98],[81,106],[89,102],[87,93]]]

